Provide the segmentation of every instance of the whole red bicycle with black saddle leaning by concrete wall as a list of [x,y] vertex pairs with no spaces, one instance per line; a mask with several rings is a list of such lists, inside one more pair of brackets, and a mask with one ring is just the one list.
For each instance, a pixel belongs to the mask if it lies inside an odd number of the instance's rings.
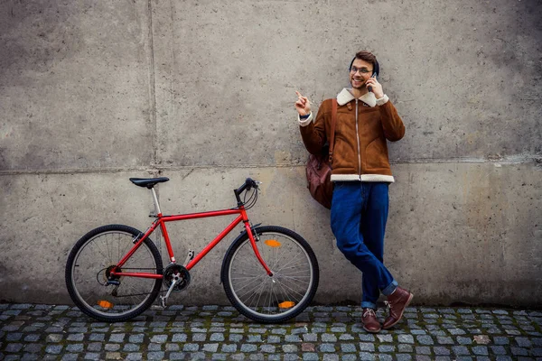
[[[311,246],[290,229],[252,226],[248,219],[247,209],[257,202],[256,180],[248,178],[234,190],[235,208],[173,216],[162,214],[154,190],[168,178],[130,180],[151,190],[155,220],[145,232],[123,225],[98,227],[73,246],[66,264],[66,285],[71,300],[85,314],[102,321],[125,321],[148,309],[162,292],[165,295],[160,299],[165,307],[171,292],[188,287],[192,267],[240,223],[245,230],[229,246],[220,272],[233,306],[249,319],[274,323],[294,318],[313,300],[319,270]],[[200,254],[194,257],[189,251],[184,264],[176,262],[167,222],[230,215],[237,218]],[[158,227],[170,259],[165,268],[149,237]]]

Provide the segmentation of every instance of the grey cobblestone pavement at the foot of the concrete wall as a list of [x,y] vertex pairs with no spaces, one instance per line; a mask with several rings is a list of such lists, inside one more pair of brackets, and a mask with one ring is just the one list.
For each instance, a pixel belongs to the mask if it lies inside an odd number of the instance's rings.
[[[2,360],[542,360],[542,312],[408,308],[368,334],[354,306],[315,306],[262,325],[231,307],[153,307],[96,322],[69,306],[0,304]],[[384,318],[384,310],[378,310]]]

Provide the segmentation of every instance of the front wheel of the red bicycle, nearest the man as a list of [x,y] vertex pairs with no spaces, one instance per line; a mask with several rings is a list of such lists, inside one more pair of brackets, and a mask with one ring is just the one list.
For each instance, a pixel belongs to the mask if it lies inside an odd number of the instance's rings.
[[231,304],[248,319],[278,323],[293,319],[313,301],[320,272],[311,246],[294,231],[255,227],[257,249],[273,272],[257,260],[248,234],[240,236],[224,257],[221,280]]

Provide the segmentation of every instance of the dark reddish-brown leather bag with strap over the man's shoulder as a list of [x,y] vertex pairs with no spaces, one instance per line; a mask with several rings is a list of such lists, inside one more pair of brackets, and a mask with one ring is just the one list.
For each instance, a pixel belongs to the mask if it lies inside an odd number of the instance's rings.
[[329,145],[323,146],[320,154],[310,154],[306,165],[307,188],[311,192],[313,199],[316,199],[318,203],[328,209],[332,208],[333,196],[331,177],[335,123],[337,123],[337,99],[332,99],[332,129]]

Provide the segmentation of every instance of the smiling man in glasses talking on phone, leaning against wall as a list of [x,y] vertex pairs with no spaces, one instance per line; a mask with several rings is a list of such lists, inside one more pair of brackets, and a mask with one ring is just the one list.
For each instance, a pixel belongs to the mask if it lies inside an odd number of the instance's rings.
[[[337,121],[332,154],[332,232],[337,246],[362,273],[363,328],[376,333],[403,317],[413,294],[397,285],[383,264],[388,219],[388,184],[394,181],[386,140],[396,142],[405,125],[378,82],[378,61],[360,51],[350,64],[351,88],[337,96]],[[309,153],[320,153],[330,139],[332,99],[322,102],[313,120],[311,103],[297,92],[295,109]],[[376,317],[379,292],[388,297],[389,316]]]

